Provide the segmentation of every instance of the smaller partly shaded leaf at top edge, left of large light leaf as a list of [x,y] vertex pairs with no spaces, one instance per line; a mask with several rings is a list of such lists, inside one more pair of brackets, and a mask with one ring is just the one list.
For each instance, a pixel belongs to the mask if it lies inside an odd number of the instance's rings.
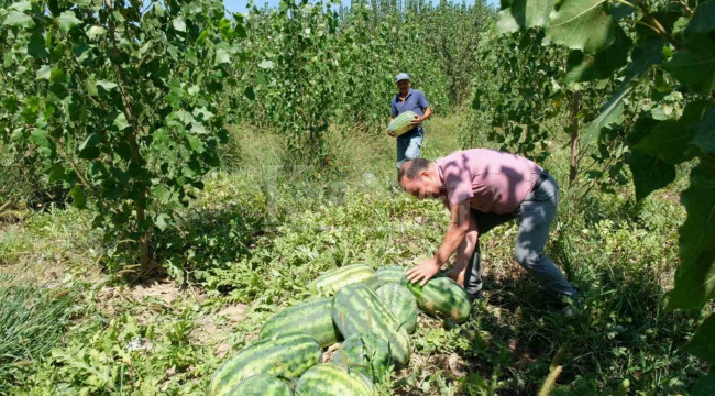
[[529,28],[543,28],[553,11],[554,0],[515,0],[497,14],[497,34],[514,33]]

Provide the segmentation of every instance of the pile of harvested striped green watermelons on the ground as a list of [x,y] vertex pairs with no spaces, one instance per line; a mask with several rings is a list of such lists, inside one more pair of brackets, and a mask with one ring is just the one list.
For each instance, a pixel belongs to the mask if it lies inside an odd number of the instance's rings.
[[[438,276],[425,287],[395,265],[377,272],[353,264],[312,284],[316,298],[271,317],[260,340],[230,356],[213,374],[212,396],[373,396],[375,383],[408,365],[418,306],[429,315],[462,322],[470,316],[466,293]],[[323,349],[339,343],[332,361]]]

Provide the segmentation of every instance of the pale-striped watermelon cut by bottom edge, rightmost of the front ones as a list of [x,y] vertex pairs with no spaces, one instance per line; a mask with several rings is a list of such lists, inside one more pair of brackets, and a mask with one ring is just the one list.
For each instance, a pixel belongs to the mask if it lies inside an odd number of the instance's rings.
[[296,396],[375,396],[375,386],[362,374],[332,363],[308,370],[296,385]]

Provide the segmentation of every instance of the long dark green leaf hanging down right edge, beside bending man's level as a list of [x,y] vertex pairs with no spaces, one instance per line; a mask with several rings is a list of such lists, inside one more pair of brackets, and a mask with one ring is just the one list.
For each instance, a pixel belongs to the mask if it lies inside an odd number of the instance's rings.
[[688,218],[680,228],[680,260],[668,308],[695,309],[715,297],[715,178],[703,165],[681,194]]

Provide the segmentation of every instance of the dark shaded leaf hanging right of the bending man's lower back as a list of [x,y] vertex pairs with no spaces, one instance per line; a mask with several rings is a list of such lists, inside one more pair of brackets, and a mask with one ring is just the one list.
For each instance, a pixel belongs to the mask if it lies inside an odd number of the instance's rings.
[[675,179],[674,165],[639,151],[630,153],[628,166],[634,174],[636,200],[648,197],[650,193],[668,186]]

